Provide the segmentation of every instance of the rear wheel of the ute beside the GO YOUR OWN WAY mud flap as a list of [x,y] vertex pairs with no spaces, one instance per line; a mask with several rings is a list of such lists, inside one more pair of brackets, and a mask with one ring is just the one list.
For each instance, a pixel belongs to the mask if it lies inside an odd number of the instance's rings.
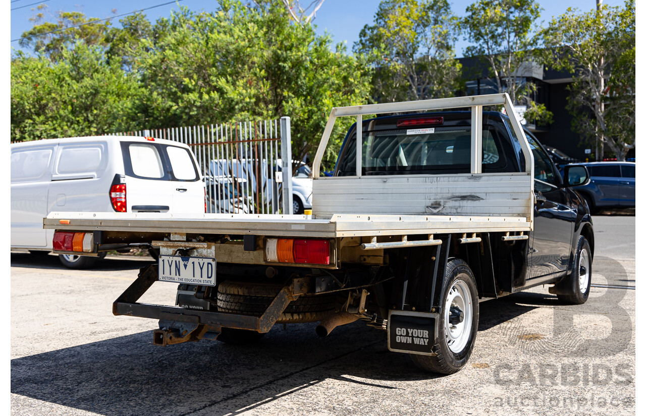
[[[480,312],[475,277],[468,264],[451,259],[444,273],[446,282],[442,288],[439,331],[432,348],[436,355],[410,356],[422,370],[453,374],[463,368],[471,356]],[[457,312],[463,315],[460,322],[456,322],[460,315]]]

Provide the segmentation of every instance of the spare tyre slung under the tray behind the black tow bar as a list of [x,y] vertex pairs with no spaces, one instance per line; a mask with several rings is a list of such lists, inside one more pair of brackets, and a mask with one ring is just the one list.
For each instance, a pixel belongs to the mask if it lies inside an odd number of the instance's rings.
[[[260,316],[282,286],[258,282],[224,281],[218,286],[218,311]],[[334,295],[300,295],[276,323],[315,322],[334,312]]]

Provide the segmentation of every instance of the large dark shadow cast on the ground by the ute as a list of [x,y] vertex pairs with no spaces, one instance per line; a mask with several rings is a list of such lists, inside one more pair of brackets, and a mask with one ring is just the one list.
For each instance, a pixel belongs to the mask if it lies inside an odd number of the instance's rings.
[[[538,306],[481,305],[479,330]],[[257,344],[152,345],[152,331],[12,360],[11,391],[102,415],[238,414],[330,380],[396,390],[430,381],[386,332],[355,322],[318,338],[316,324],[276,325]],[[357,380],[359,379],[359,380]],[[366,381],[367,380],[367,381]]]

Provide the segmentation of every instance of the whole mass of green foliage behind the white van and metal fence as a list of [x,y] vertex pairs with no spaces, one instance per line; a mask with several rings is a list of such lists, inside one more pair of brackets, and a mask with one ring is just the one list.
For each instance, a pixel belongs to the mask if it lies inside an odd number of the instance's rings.
[[[362,104],[370,94],[362,61],[311,25],[293,23],[281,0],[223,0],[214,12],[180,8],[154,25],[143,15],[121,23],[100,46],[70,35],[76,43],[57,40],[56,55],[40,48],[37,57],[14,56],[12,140],[289,115],[297,158],[316,150],[332,106]],[[66,81],[54,83],[54,74]],[[43,95],[34,85],[46,82],[56,86]],[[118,102],[108,104],[112,97]],[[105,104],[103,118],[93,118],[91,103]],[[327,168],[339,147],[340,140],[330,143]]]

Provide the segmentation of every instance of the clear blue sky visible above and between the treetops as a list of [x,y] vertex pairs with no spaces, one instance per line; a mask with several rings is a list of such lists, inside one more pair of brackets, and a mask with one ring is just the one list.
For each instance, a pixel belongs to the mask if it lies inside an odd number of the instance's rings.
[[[14,0],[10,3],[11,8],[36,3],[37,0]],[[146,8],[161,3],[167,3],[169,0],[112,0],[112,1],[88,1],[88,0],[48,0],[44,4],[48,6],[50,12],[56,10],[81,11],[90,17],[100,19],[116,14],[123,14]],[[301,0],[302,4],[309,4],[309,0]],[[466,6],[474,3],[473,0],[454,0],[451,2],[453,11],[457,15],[464,15]],[[610,6],[623,5],[623,0],[605,0],[604,4]],[[553,15],[560,15],[567,10],[569,6],[579,8],[579,10],[591,10],[596,7],[596,0],[543,0],[539,1],[543,12],[541,19],[548,21]],[[177,9],[178,5],[185,5],[191,10],[214,10],[217,3],[215,0],[183,0],[180,3],[161,6],[152,10],[147,10],[145,14],[151,21],[159,17],[167,17],[172,9]],[[359,31],[364,25],[372,23],[373,16],[379,6],[379,0],[325,0],[317,17],[314,21],[317,25],[317,32],[322,34],[325,30],[333,35],[335,43],[346,41],[348,50],[351,51],[352,45],[359,39]],[[11,11],[11,39],[17,39],[20,35],[32,27],[29,18],[34,14],[29,6]],[[118,19],[115,19],[114,25],[118,26]],[[11,46],[18,48],[17,42],[12,42]],[[456,45],[458,56],[462,56],[462,50],[468,46],[466,41],[459,41]]]

